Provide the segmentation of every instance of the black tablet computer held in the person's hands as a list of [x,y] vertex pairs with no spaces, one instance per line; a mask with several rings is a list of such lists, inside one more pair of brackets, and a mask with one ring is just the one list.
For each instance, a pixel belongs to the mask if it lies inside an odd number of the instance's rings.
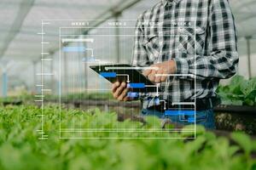
[[132,65],[92,65],[90,69],[111,83],[127,82],[132,92],[159,92],[158,86],[143,75],[143,68]]

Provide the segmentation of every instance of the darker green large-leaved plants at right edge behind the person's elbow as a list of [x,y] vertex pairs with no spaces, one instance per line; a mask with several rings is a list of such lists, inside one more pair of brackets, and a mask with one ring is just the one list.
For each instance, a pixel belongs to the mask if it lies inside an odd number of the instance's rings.
[[224,105],[256,106],[256,78],[233,77],[228,86],[218,87],[218,95]]

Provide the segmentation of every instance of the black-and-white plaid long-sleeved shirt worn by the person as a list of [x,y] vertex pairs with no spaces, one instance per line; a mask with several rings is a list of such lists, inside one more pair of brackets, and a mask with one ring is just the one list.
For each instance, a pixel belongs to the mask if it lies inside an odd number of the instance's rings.
[[[137,20],[132,65],[174,59],[176,74],[183,76],[162,82],[160,99],[170,103],[209,98],[216,95],[220,79],[236,74],[236,41],[228,0],[162,0]],[[154,96],[141,96],[143,108],[159,105]]]

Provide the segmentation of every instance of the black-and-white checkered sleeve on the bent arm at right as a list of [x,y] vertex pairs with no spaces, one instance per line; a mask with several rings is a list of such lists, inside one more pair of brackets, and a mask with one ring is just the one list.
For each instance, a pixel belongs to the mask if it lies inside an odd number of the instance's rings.
[[175,59],[177,74],[193,74],[199,79],[224,79],[236,74],[238,65],[236,26],[228,0],[213,0],[209,26],[211,55],[189,55]]

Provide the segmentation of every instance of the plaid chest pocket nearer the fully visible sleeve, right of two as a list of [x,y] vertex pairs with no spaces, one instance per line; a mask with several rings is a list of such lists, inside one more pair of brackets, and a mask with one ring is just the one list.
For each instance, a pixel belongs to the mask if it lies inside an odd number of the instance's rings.
[[206,40],[206,29],[196,28],[179,28],[177,31],[177,49],[185,54],[203,54]]

